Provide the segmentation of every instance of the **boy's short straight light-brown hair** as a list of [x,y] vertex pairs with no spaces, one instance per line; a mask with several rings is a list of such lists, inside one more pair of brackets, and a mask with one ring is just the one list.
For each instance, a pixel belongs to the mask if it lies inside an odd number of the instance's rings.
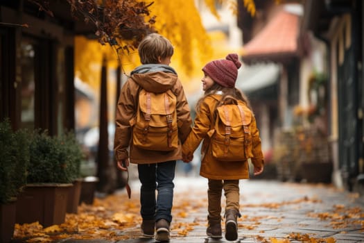
[[138,47],[139,58],[142,64],[157,64],[158,57],[168,58],[173,56],[173,45],[162,35],[152,33],[144,37]]

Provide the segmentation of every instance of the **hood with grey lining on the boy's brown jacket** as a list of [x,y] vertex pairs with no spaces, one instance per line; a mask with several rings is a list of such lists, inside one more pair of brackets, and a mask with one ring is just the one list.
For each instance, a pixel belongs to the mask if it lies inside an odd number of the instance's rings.
[[159,64],[146,64],[135,68],[131,78],[148,92],[165,92],[177,82],[177,73],[173,67]]

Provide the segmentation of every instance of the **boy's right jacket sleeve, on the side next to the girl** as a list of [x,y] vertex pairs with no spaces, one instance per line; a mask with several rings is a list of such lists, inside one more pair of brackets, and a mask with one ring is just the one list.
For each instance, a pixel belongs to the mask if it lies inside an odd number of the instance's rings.
[[187,135],[189,135],[189,132],[191,131],[192,119],[189,103],[187,102],[182,83],[179,79],[175,85],[175,95],[177,97],[176,110],[178,137],[180,137],[180,140],[183,144],[184,140],[187,138]]

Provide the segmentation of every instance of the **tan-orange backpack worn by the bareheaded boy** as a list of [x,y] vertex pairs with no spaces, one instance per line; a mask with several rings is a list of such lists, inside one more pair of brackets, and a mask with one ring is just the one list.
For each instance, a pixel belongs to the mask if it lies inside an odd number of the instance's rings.
[[177,149],[176,103],[177,99],[171,90],[153,93],[141,89],[137,115],[132,124],[133,144],[154,151]]

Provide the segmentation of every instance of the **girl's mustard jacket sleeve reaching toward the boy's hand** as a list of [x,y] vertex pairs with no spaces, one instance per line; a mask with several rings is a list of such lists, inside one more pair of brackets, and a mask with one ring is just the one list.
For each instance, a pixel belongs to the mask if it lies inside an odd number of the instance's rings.
[[193,153],[211,130],[211,112],[208,103],[202,101],[199,110],[196,114],[192,131],[182,145],[182,153],[184,154]]

